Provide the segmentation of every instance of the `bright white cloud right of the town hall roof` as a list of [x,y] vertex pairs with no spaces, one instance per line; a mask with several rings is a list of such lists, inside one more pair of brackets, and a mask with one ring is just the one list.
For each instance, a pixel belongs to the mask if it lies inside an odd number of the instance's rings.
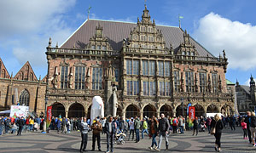
[[216,56],[225,49],[229,68],[256,67],[256,26],[210,13],[201,18],[193,36]]

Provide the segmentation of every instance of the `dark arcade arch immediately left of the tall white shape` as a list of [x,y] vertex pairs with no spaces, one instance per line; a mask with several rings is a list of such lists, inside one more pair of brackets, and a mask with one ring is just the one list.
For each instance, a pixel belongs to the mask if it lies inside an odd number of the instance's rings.
[[68,117],[82,117],[84,116],[84,106],[80,103],[73,103],[68,108]]

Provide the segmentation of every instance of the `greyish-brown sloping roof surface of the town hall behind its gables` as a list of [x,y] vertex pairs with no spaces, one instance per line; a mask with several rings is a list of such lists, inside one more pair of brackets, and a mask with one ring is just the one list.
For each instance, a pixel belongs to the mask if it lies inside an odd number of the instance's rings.
[[[131,30],[137,27],[137,23],[110,21],[110,20],[86,20],[74,33],[67,38],[67,40],[61,45],[61,48],[85,48],[85,45],[89,43],[90,37],[95,36],[96,26],[101,25],[103,27],[102,34],[108,37],[113,50],[120,51],[123,45],[123,39],[130,37]],[[172,48],[177,50],[179,45],[183,42],[184,31],[179,27],[173,26],[156,26],[157,29],[162,31],[162,34],[166,40],[166,47],[169,48],[172,42]],[[199,53],[199,56],[213,57],[211,53],[203,48],[200,43],[190,37],[189,40],[192,44],[195,44],[195,48]]]

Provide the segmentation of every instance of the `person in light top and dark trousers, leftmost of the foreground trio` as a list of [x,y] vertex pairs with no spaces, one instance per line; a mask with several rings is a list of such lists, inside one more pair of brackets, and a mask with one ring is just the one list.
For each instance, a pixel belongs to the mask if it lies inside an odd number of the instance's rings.
[[81,124],[80,124],[80,132],[81,132],[81,145],[80,145],[80,152],[86,151],[87,141],[88,141],[88,131],[89,126],[86,122],[86,117],[82,117]]

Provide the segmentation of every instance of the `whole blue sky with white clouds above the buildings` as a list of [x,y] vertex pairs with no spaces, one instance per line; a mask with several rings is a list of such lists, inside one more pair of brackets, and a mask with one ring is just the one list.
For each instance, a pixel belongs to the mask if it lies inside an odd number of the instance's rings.
[[[14,75],[28,60],[37,77],[47,73],[49,37],[61,45],[87,19],[137,22],[144,0],[38,0],[0,2],[0,57]],[[182,28],[215,56],[225,49],[230,64],[226,78],[246,84],[256,77],[256,1],[148,0],[157,25]]]

